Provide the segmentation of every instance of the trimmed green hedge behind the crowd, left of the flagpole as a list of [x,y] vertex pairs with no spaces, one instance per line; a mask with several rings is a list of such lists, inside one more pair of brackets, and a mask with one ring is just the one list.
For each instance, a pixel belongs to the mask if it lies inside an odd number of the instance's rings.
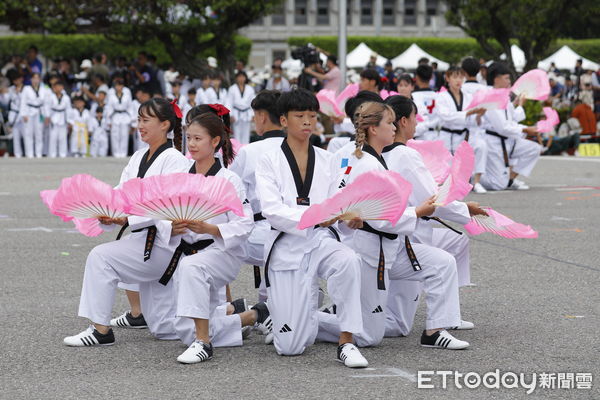
[[[236,59],[248,60],[252,41],[242,36],[236,37]],[[150,40],[143,46],[125,45],[106,39],[103,35],[17,35],[0,36],[0,58],[13,54],[25,54],[31,45],[37,46],[44,56],[49,58],[91,58],[96,53],[106,53],[109,58],[125,56],[133,59],[139,51],[156,55],[159,65],[169,64],[172,60],[165,47],[158,40]],[[201,57],[215,55],[214,49],[199,54]]]

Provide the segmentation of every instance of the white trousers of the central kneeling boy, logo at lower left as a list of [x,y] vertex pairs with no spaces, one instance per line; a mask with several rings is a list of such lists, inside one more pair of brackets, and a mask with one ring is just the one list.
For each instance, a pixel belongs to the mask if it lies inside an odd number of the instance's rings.
[[269,270],[268,304],[278,354],[302,354],[314,343],[319,331],[318,278],[327,281],[340,330],[362,331],[359,268],[360,258],[352,250],[326,237],[304,255],[298,269]]

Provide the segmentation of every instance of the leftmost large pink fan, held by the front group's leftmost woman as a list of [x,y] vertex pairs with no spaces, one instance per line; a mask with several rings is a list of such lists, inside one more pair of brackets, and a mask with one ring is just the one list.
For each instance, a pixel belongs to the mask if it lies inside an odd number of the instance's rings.
[[91,175],[78,174],[62,180],[52,200],[51,211],[64,221],[72,218],[122,218],[127,216],[127,206],[120,190]]

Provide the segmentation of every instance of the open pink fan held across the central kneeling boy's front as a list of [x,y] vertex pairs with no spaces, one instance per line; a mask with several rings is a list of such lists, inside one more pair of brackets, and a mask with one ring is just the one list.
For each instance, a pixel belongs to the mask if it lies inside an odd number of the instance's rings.
[[359,175],[333,197],[310,206],[298,223],[306,229],[334,218],[388,220],[395,224],[408,203],[412,185],[392,171],[369,171]]

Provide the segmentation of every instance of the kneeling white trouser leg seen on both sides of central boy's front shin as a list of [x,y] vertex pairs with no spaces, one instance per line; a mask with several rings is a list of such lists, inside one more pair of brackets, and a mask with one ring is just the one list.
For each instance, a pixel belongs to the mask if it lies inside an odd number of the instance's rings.
[[[354,340],[359,347],[377,346],[383,340],[386,327],[386,309],[389,273],[385,271],[386,290],[377,288],[377,268],[361,261],[360,267],[361,288],[360,302],[363,320],[363,329],[355,333]],[[340,337],[340,326],[335,314],[319,312],[318,340],[337,343]]]

